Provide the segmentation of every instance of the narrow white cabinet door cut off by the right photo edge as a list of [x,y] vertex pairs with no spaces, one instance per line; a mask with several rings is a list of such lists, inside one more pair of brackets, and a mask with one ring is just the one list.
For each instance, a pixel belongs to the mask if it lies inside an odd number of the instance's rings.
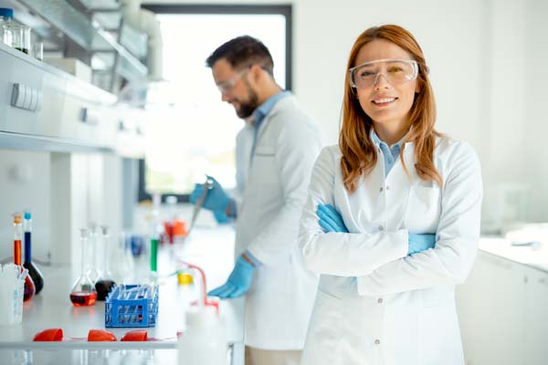
[[525,353],[527,365],[548,363],[548,274],[526,268]]

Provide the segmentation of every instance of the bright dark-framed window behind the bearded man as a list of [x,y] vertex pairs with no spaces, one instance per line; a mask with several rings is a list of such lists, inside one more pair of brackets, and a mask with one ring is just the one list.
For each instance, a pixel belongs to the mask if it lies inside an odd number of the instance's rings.
[[290,6],[144,7],[155,12],[161,23],[163,78],[172,85],[165,98],[174,105],[152,107],[139,198],[163,193],[187,201],[206,173],[233,188],[236,135],[243,120],[221,101],[205,58],[235,36],[255,36],[269,47],[277,82],[290,89]]

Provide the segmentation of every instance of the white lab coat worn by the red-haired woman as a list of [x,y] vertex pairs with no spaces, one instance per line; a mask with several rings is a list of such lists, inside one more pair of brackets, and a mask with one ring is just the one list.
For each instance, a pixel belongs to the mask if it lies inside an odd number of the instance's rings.
[[[321,274],[301,364],[464,364],[454,295],[478,248],[479,161],[468,144],[438,138],[440,189],[417,177],[414,155],[406,143],[409,176],[398,159],[385,178],[377,146],[374,170],[349,194],[339,147],[321,151],[300,226],[305,265]],[[323,233],[319,203],[351,234]],[[436,247],[408,256],[409,233],[435,233]]]

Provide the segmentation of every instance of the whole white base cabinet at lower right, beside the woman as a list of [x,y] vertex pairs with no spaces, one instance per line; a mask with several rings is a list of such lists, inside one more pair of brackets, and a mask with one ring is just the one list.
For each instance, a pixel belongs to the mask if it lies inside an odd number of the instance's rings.
[[457,306],[467,365],[548,363],[548,273],[479,251]]

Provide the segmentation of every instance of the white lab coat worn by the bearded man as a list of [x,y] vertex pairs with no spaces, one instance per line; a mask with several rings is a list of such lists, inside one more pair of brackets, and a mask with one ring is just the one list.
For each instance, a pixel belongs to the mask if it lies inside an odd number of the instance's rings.
[[248,249],[263,265],[246,295],[245,342],[302,349],[318,276],[305,269],[297,239],[320,130],[290,95],[263,120],[250,159],[252,141],[246,126],[237,136],[236,255]]

